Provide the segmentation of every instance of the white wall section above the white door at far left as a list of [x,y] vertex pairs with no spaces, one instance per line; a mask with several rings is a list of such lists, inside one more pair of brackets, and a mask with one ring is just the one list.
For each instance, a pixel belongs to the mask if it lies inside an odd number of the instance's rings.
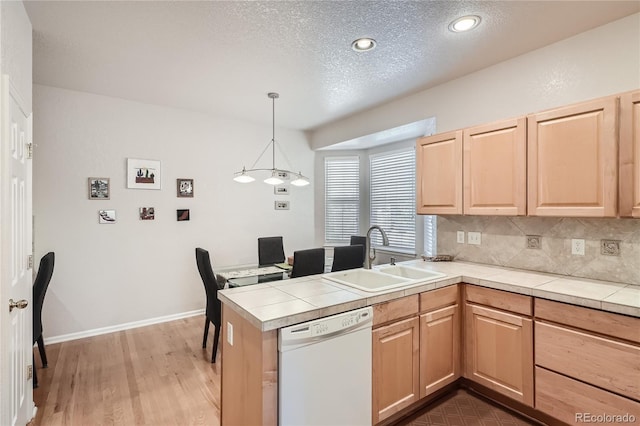
[[21,1],[0,1],[0,73],[8,74],[31,112],[31,21]]

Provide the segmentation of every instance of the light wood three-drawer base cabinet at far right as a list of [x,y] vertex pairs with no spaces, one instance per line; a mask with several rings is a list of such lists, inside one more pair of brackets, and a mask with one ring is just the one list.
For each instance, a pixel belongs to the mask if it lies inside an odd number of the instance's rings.
[[640,419],[640,319],[536,298],[535,342],[536,409]]

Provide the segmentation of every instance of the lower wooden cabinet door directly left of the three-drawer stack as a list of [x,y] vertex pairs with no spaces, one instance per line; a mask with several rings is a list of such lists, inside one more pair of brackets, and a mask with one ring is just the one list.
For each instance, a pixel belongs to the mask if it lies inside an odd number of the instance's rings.
[[533,406],[532,321],[466,305],[465,376]]

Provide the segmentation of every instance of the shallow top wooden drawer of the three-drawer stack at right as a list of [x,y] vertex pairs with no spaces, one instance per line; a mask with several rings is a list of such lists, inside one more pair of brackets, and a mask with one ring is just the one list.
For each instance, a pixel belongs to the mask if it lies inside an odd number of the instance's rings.
[[606,334],[640,343],[640,318],[603,312],[550,300],[535,300],[536,319],[570,325],[583,330]]

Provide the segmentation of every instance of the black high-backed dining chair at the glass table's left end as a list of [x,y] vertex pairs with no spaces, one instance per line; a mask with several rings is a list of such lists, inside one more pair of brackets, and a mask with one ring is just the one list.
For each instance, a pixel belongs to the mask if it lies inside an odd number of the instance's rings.
[[204,290],[207,294],[207,308],[204,319],[204,337],[202,338],[202,348],[207,347],[207,337],[209,337],[209,324],[213,323],[216,332],[213,335],[213,353],[211,354],[211,362],[216,362],[216,354],[218,352],[218,341],[220,340],[220,327],[222,325],[222,303],[218,299],[218,281],[211,268],[211,258],[209,252],[203,248],[196,248],[196,263],[198,272],[204,284]]

